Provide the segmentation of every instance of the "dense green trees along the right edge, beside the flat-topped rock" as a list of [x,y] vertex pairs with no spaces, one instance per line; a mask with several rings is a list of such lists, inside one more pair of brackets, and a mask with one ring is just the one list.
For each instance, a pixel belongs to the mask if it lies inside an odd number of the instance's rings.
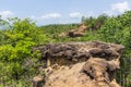
[[[109,17],[105,25],[98,30],[97,37],[107,42],[121,44],[126,47],[124,54],[121,58],[121,69],[118,72],[118,80],[122,86],[130,87],[131,84],[127,84],[130,79],[131,64],[131,11],[118,15],[116,17]],[[123,76],[121,78],[121,75]],[[124,80],[126,79],[126,80]]]

